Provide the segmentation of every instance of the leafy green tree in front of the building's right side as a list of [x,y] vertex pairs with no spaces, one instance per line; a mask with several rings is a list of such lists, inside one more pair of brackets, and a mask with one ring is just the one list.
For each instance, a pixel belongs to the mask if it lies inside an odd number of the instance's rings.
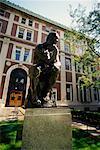
[[[75,61],[84,65],[84,75],[79,80],[83,81],[82,86],[100,87],[100,9],[95,7],[86,14],[81,5],[76,9],[70,6],[69,14],[73,27],[66,31],[65,39],[73,43],[80,40],[86,44],[84,52],[75,55]],[[75,53],[74,48],[72,51]]]

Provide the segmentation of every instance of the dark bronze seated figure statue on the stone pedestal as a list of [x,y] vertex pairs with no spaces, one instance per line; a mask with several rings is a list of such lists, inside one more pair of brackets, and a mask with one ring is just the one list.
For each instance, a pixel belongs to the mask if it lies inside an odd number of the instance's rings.
[[51,32],[46,42],[35,48],[34,63],[29,69],[30,86],[27,100],[31,107],[43,107],[46,97],[52,90],[60,70],[59,50],[57,42],[59,35]]

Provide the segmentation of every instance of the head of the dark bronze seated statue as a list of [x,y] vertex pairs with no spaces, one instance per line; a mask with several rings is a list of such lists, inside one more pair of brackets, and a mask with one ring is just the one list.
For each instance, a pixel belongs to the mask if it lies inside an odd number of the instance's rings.
[[47,36],[46,43],[49,45],[56,44],[58,42],[59,35],[57,32],[50,32]]

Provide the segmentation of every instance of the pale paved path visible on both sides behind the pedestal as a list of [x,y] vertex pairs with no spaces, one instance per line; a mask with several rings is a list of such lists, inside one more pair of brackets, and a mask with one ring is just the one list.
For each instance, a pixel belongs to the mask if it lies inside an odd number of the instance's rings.
[[[21,107],[4,107],[0,108],[0,121],[9,121],[9,120],[24,120],[25,109]],[[72,127],[89,130],[91,135],[100,136],[100,129],[96,129],[95,127],[87,126],[80,122],[72,122]]]

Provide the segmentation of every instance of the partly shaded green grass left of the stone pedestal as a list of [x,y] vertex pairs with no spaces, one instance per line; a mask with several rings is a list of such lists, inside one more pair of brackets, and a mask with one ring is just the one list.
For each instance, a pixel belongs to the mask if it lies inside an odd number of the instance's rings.
[[0,123],[0,150],[20,150],[22,144],[22,121]]

